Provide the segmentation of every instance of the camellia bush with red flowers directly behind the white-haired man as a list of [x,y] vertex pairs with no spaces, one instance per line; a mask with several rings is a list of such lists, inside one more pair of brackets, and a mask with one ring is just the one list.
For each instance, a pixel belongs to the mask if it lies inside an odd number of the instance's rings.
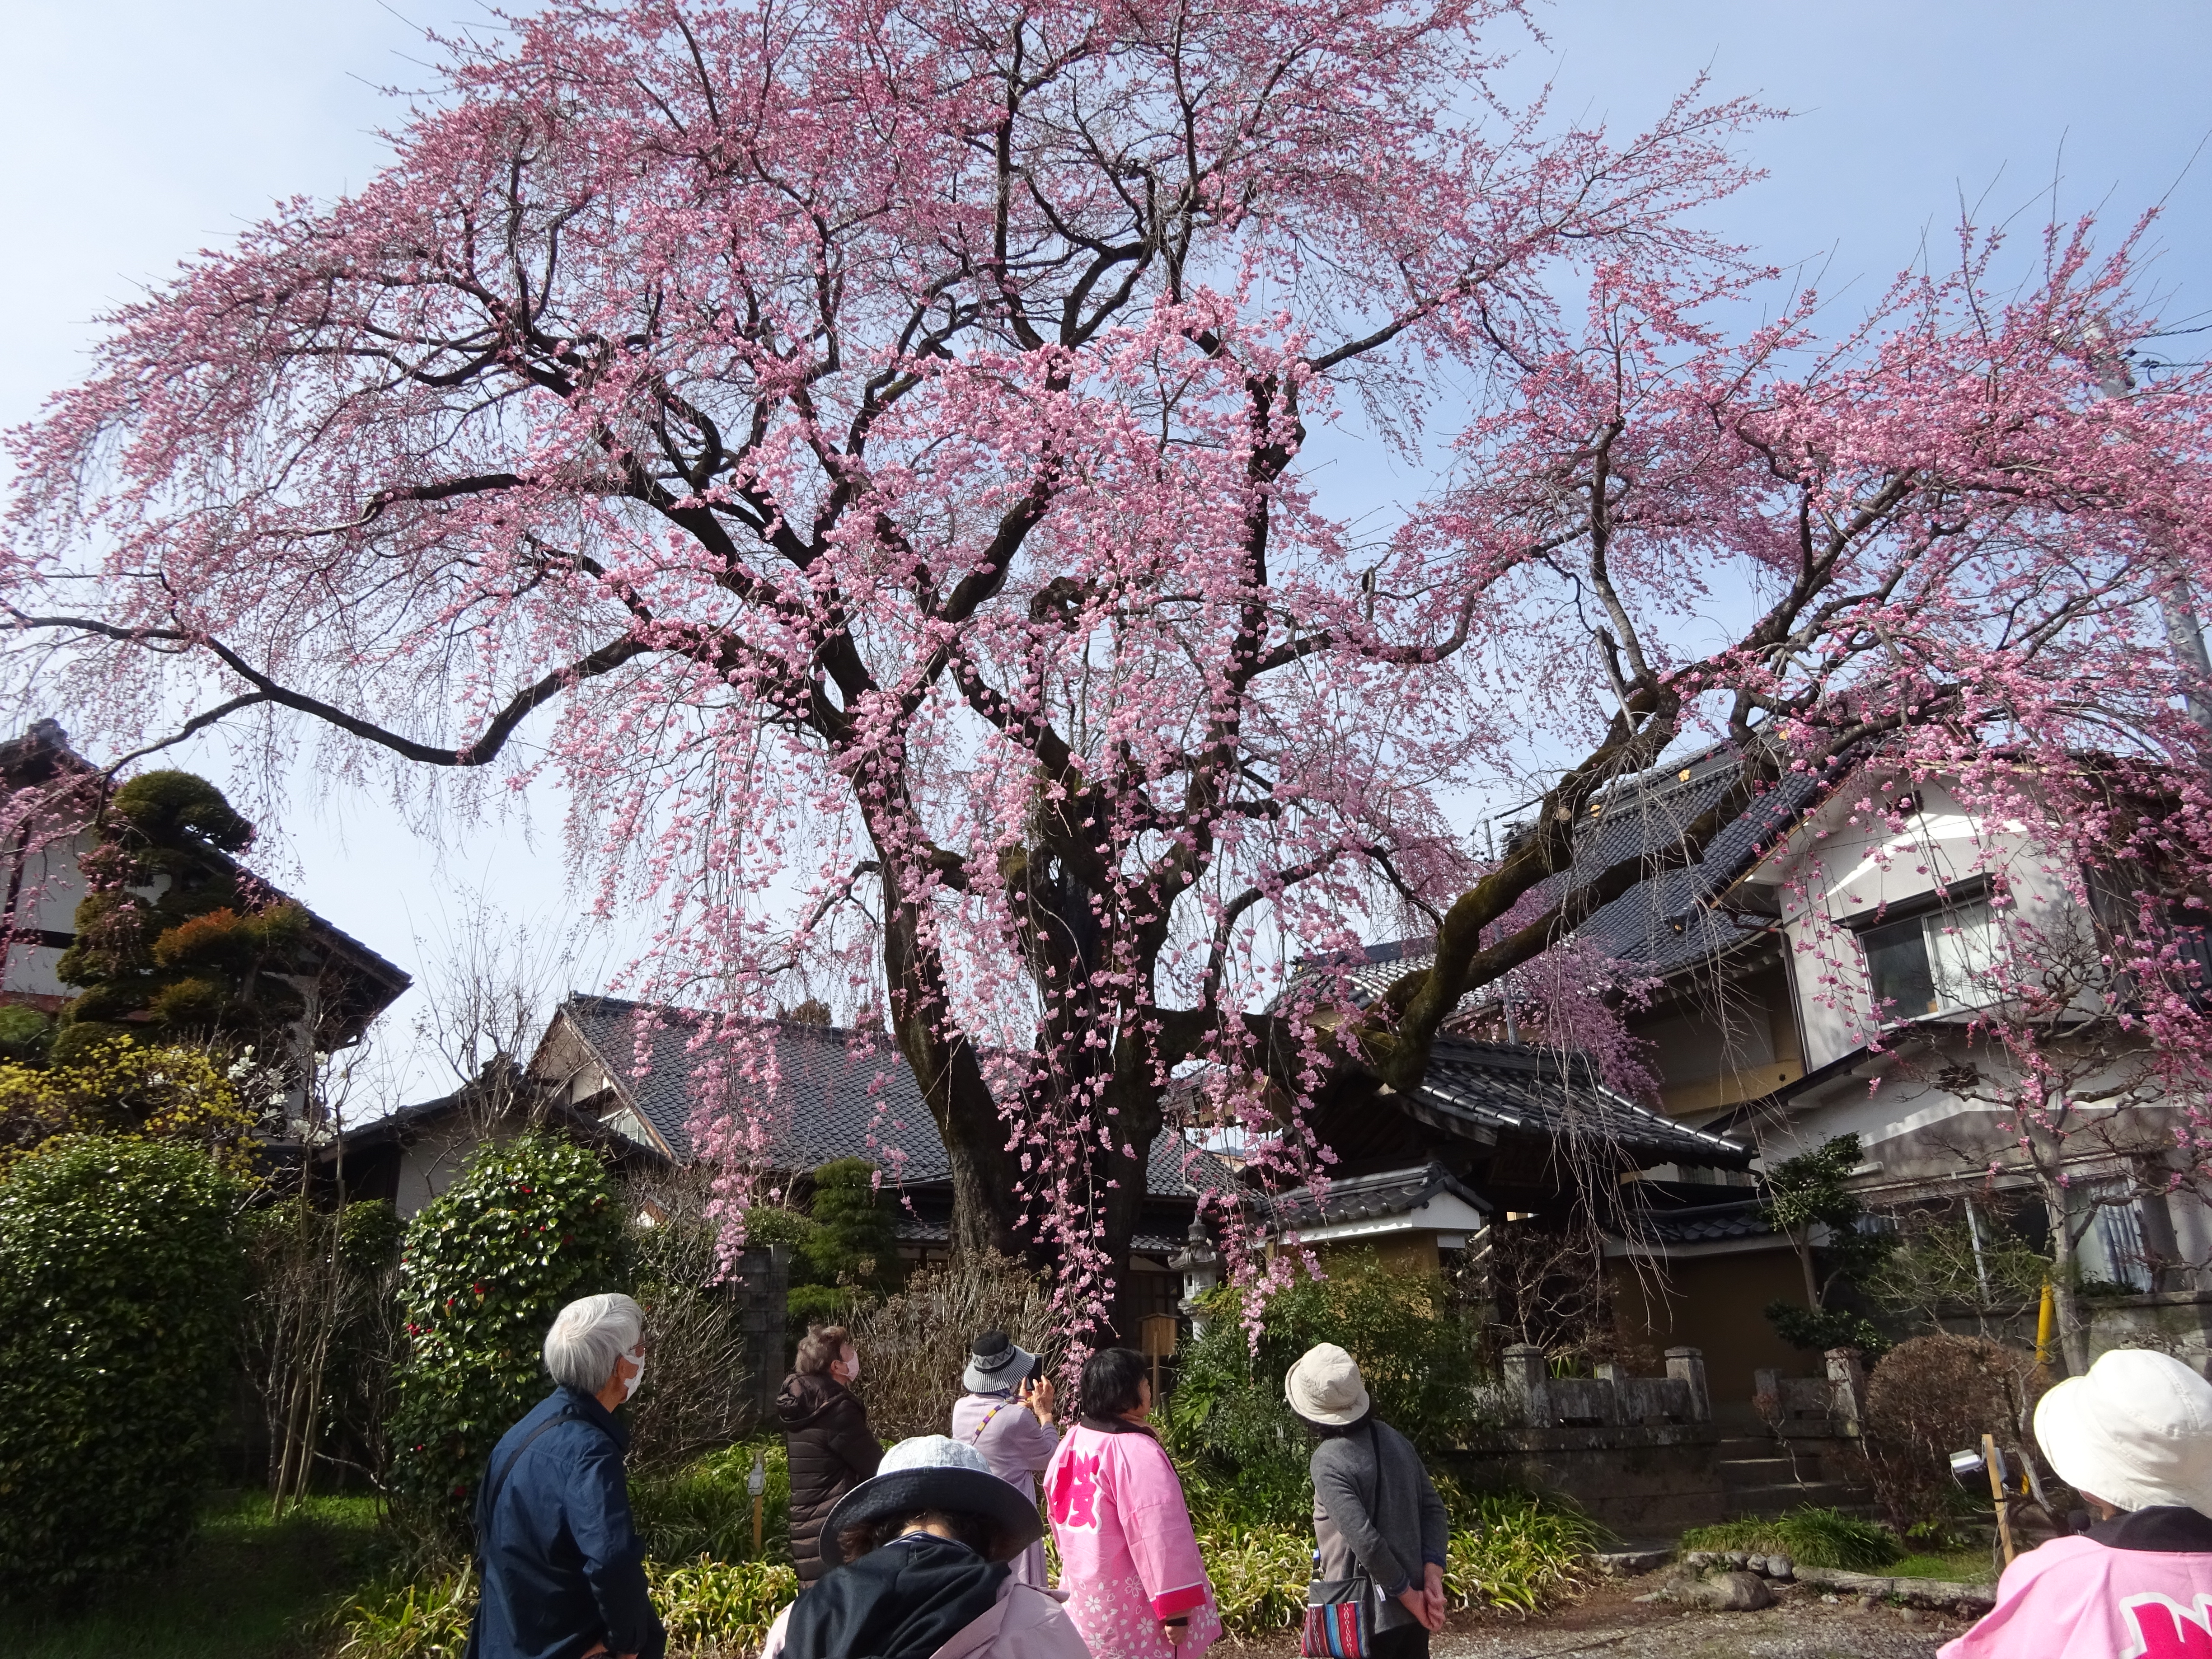
[[622,1287],[622,1214],[597,1155],[573,1141],[484,1146],[409,1223],[392,1473],[431,1533],[467,1531],[491,1447],[551,1389],[553,1316]]

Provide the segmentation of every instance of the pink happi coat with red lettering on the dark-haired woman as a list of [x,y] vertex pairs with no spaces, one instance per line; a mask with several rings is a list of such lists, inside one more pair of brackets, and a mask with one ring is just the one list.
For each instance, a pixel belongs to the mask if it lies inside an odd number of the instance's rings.
[[[1044,1471],[1060,1588],[1091,1659],[1197,1659],[1221,1637],[1183,1482],[1144,1429],[1079,1422]],[[1188,1619],[1168,1641],[1164,1619]]]

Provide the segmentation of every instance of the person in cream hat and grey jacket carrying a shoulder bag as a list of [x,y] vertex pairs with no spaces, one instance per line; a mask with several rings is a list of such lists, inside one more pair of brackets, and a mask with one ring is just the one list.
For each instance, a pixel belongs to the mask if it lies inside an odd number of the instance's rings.
[[1413,1442],[1380,1422],[1358,1363],[1336,1343],[1307,1349],[1283,1398],[1316,1436],[1314,1575],[1374,1584],[1376,1659],[1427,1659],[1444,1628],[1451,1515]]

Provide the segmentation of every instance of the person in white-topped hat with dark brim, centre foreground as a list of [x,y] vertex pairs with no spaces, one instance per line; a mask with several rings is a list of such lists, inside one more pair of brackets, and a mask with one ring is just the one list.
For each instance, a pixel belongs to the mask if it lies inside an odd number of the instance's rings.
[[1088,1659],[1066,1597],[1006,1566],[1042,1533],[975,1447],[900,1440],[830,1511],[827,1571],[776,1615],[761,1659]]

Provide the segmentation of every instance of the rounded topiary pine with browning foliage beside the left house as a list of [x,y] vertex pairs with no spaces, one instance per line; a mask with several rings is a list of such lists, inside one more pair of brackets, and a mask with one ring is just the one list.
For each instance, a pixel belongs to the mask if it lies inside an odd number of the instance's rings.
[[55,1064],[111,1037],[283,1048],[305,1009],[285,973],[307,911],[241,883],[230,854],[252,841],[252,823],[192,772],[144,772],[108,799],[82,860],[77,938],[55,964],[82,987],[62,1009]]

